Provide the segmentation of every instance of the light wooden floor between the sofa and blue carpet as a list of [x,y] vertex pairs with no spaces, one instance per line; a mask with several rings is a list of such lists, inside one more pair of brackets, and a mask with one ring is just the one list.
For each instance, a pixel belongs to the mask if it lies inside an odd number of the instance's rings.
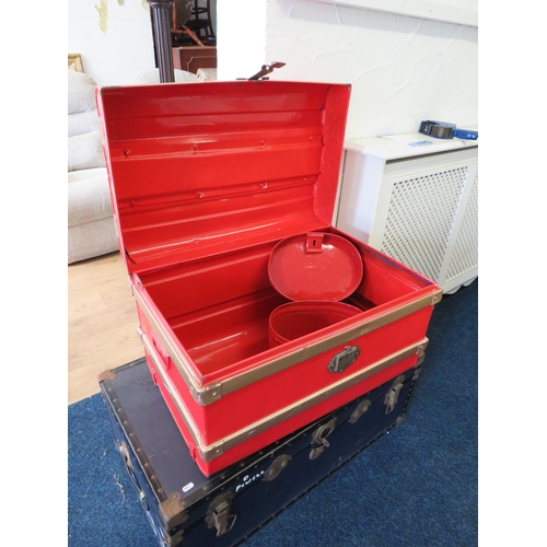
[[95,393],[97,376],[143,357],[119,253],[68,266],[68,404]]

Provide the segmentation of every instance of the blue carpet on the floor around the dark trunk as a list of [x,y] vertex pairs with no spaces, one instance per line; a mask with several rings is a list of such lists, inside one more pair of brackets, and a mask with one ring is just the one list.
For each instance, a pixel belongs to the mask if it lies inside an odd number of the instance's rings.
[[[478,280],[445,295],[405,421],[243,545],[477,545],[477,315]],[[100,395],[69,407],[68,444],[68,545],[155,547]]]

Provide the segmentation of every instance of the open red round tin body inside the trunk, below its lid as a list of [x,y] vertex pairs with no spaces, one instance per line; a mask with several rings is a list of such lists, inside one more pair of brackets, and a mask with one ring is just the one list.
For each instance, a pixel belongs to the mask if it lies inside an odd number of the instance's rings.
[[271,348],[328,327],[361,313],[359,307],[342,302],[289,302],[270,314]]

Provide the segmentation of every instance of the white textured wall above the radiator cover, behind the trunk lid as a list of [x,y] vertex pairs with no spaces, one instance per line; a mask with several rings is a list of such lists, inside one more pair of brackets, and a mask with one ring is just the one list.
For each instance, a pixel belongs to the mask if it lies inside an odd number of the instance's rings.
[[[244,39],[260,37],[261,19],[241,30],[229,19],[251,2],[267,10],[264,48]],[[422,119],[478,126],[477,27],[317,0],[219,2],[217,26],[220,79],[284,61],[270,79],[350,83],[347,138],[411,132]]]

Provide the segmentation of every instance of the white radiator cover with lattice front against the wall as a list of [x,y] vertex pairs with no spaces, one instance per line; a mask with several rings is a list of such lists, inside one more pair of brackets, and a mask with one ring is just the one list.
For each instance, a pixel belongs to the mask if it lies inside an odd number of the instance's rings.
[[347,141],[335,210],[339,230],[451,294],[478,276],[478,141]]

